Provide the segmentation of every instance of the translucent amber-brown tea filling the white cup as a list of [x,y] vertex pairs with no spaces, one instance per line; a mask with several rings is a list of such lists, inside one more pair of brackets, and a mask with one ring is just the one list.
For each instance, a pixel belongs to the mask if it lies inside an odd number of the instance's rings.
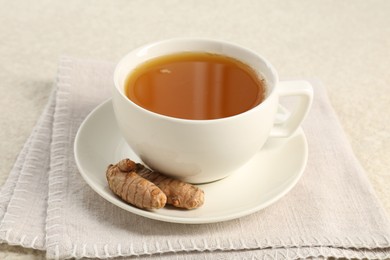
[[218,119],[260,104],[265,81],[248,65],[210,53],[184,52],[149,60],[132,71],[127,97],[158,114]]

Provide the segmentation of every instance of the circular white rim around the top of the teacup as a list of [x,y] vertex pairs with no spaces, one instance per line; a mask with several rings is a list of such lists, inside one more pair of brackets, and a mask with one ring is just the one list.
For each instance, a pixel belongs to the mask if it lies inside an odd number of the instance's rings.
[[[267,93],[265,99],[260,104],[254,106],[254,107],[252,107],[252,108],[250,108],[250,109],[248,109],[248,110],[246,110],[244,112],[241,112],[241,113],[238,113],[238,114],[235,114],[235,115],[232,115],[232,116],[228,116],[228,117],[215,118],[215,119],[188,119],[188,118],[178,118],[178,117],[168,116],[168,115],[164,115],[164,114],[159,114],[157,112],[150,111],[150,110],[148,110],[146,108],[143,108],[142,106],[136,104],[135,102],[133,102],[132,100],[130,100],[126,96],[126,94],[124,93],[124,90],[121,90],[122,86],[121,86],[121,84],[119,82],[119,76],[120,76],[119,75],[119,73],[120,73],[119,70],[124,65],[124,63],[129,59],[129,57],[137,55],[137,54],[138,54],[137,56],[144,55],[144,53],[148,49],[150,49],[152,47],[155,47],[155,46],[158,46],[158,45],[161,45],[161,44],[185,43],[185,42],[221,44],[221,45],[224,45],[224,46],[237,48],[237,49],[240,49],[240,50],[242,50],[242,51],[244,51],[246,53],[249,53],[252,56],[255,56],[258,60],[261,60],[265,64],[265,66],[267,67],[267,69],[269,70],[270,74],[273,77],[273,81],[274,81],[273,82],[273,86],[272,87],[269,86],[270,83],[267,82],[267,90],[270,90],[270,91],[269,91],[269,93]],[[180,51],[177,51],[177,52],[180,52]],[[173,53],[175,53],[175,52],[173,52]],[[226,56],[229,56],[229,54],[226,54]],[[233,57],[233,58],[239,59],[240,61],[245,63],[245,61],[241,60],[240,58],[237,58],[237,57]],[[225,40],[219,40],[219,39],[198,38],[198,37],[179,37],[179,38],[170,38],[170,39],[150,42],[150,43],[141,45],[138,48],[135,48],[135,49],[131,50],[130,52],[126,53],[119,60],[117,65],[115,66],[114,74],[113,74],[113,80],[114,80],[115,91],[119,92],[121,98],[125,99],[126,102],[128,102],[132,106],[136,107],[137,109],[140,109],[141,111],[143,111],[143,112],[145,112],[145,113],[147,113],[147,114],[149,114],[151,116],[154,116],[154,117],[157,117],[157,118],[160,118],[160,119],[169,120],[169,121],[174,121],[174,122],[205,124],[205,123],[211,123],[211,122],[222,122],[222,121],[232,120],[234,118],[242,117],[245,114],[252,113],[254,110],[259,109],[259,108],[265,106],[266,103],[270,102],[269,101],[270,97],[272,95],[274,95],[274,93],[276,92],[275,88],[276,88],[276,85],[279,82],[279,76],[278,76],[278,73],[277,73],[276,69],[274,68],[274,66],[266,58],[264,58],[262,55],[258,54],[254,50],[249,49],[247,47],[244,47],[242,45],[239,45],[239,44],[236,44],[236,43],[233,43],[233,42],[228,42],[228,41],[225,41]]]

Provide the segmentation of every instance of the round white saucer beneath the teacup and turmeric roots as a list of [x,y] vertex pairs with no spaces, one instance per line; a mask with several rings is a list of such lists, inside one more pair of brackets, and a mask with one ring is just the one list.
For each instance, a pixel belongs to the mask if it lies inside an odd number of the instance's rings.
[[147,211],[133,207],[108,188],[105,171],[123,158],[140,162],[117,128],[111,100],[93,110],[80,126],[74,144],[75,159],[85,181],[100,196],[134,214],[147,218],[201,224],[239,218],[276,202],[302,176],[308,148],[302,129],[289,139],[270,139],[264,148],[233,175],[199,185],[205,204],[195,210],[166,207]]

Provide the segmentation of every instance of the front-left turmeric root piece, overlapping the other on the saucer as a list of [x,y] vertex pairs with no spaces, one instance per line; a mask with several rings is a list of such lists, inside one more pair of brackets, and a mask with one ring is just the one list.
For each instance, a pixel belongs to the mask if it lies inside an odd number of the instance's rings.
[[156,185],[135,172],[122,171],[117,165],[109,165],[106,178],[110,189],[124,201],[145,209],[165,206],[167,197]]

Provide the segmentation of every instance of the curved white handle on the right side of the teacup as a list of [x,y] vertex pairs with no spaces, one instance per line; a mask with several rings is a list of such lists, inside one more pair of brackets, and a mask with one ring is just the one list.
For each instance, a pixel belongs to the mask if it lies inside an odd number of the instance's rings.
[[298,103],[286,119],[275,123],[270,137],[289,137],[295,133],[310,110],[313,102],[313,87],[304,80],[281,81],[278,83],[277,91],[279,97],[296,97]]

